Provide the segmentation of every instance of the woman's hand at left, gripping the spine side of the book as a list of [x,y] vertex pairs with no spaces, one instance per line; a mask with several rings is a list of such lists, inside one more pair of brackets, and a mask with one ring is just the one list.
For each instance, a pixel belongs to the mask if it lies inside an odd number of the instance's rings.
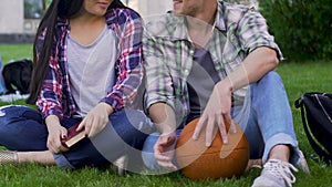
[[64,147],[61,143],[61,138],[64,138],[68,135],[68,131],[60,124],[58,116],[48,116],[45,122],[49,131],[46,143],[49,150],[52,153],[69,150],[69,148]]

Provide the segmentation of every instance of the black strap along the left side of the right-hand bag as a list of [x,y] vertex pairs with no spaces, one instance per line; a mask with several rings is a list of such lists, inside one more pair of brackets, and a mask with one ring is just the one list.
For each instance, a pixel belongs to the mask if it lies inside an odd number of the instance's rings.
[[304,110],[304,104],[302,102],[302,97],[295,101],[295,107],[301,107],[301,117],[302,117],[304,132],[312,148],[325,163],[331,163],[332,156],[320,147],[320,145],[313,139],[311,133],[309,132],[309,127],[308,127],[309,125],[305,118],[305,112],[304,112],[305,110]]

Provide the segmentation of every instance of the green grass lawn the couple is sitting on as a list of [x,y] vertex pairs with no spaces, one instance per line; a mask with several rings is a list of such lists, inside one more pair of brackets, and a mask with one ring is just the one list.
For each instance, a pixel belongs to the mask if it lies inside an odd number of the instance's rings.
[[[30,58],[32,59],[31,45],[0,45],[0,53],[3,62],[11,59]],[[293,102],[304,92],[319,91],[332,92],[331,84],[332,62],[302,62],[302,63],[281,63],[278,72],[283,79],[287,89],[290,105],[292,106],[295,132],[300,148],[303,150],[311,169],[307,175],[297,173],[297,183],[294,187],[325,187],[332,186],[331,167],[319,162],[315,153],[311,148],[301,122],[300,111],[294,108]],[[6,105],[9,103],[0,103]],[[18,101],[13,104],[24,104]],[[117,176],[107,169],[84,168],[80,170],[65,170],[58,166],[41,166],[38,164],[9,165],[0,166],[0,186],[8,187],[105,187],[105,186],[222,186],[222,187],[248,187],[259,175],[259,170],[246,173],[240,178],[225,180],[191,181],[179,173],[173,173],[162,176],[146,176],[138,174],[128,174]]]

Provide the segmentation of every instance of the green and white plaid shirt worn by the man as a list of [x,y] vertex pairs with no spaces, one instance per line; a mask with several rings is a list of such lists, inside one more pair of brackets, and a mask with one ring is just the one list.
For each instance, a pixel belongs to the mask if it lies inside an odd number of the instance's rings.
[[[193,66],[195,45],[188,37],[185,17],[172,13],[155,18],[146,24],[143,48],[146,69],[145,110],[157,102],[172,106],[183,122],[189,113],[187,77]],[[269,46],[282,54],[268,32],[266,20],[252,8],[218,1],[210,52],[220,80],[232,72],[243,59],[259,46]],[[246,87],[234,93],[242,101]]]

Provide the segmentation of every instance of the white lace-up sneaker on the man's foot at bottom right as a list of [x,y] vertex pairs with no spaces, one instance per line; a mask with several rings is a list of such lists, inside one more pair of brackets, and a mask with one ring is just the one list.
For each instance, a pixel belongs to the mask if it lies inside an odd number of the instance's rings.
[[291,173],[298,169],[279,159],[269,159],[260,174],[252,184],[252,187],[291,187],[295,183],[295,177]]

